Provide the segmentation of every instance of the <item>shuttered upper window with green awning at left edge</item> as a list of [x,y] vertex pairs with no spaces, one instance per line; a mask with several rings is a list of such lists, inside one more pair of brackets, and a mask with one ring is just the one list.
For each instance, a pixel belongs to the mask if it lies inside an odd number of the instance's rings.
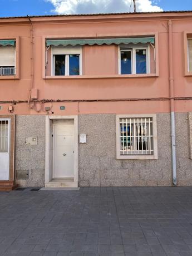
[[16,75],[15,40],[0,40],[0,76]]

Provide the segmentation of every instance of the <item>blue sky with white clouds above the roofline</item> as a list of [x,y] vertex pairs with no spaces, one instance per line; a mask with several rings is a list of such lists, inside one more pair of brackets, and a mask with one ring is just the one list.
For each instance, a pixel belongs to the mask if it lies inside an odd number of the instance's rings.
[[[192,10],[192,0],[137,0],[138,12]],[[133,11],[132,0],[0,0],[0,17]]]

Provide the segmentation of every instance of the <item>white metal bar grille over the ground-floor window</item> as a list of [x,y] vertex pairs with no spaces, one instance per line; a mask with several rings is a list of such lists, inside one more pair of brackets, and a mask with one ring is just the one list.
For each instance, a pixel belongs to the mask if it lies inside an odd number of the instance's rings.
[[120,119],[121,155],[153,155],[152,117]]

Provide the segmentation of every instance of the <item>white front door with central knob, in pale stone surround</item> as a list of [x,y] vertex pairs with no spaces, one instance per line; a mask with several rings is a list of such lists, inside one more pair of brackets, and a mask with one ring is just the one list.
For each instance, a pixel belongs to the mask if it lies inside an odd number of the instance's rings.
[[54,125],[53,178],[74,177],[74,125]]

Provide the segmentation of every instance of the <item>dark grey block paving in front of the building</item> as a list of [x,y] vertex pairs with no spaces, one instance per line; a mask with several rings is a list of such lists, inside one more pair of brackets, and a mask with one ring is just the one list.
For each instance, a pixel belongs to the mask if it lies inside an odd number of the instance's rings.
[[192,188],[0,193],[3,256],[192,255]]

